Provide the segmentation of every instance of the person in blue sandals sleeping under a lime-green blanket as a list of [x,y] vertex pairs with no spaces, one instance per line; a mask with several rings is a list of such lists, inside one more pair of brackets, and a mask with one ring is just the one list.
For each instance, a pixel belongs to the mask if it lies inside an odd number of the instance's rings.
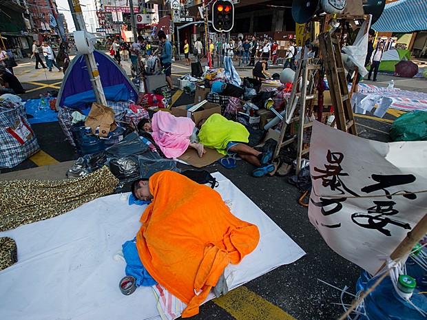
[[200,120],[198,127],[200,127],[198,140],[203,146],[216,149],[219,153],[236,160],[244,159],[258,167],[252,172],[254,177],[262,177],[273,171],[273,164],[268,163],[271,160],[271,152],[262,153],[249,147],[247,145],[249,131],[244,125],[227,120],[220,114],[213,114],[207,119]]

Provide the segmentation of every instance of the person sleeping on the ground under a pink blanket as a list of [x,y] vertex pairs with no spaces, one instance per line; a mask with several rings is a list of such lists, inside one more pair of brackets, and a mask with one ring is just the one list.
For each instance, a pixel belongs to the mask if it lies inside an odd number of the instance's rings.
[[138,129],[152,134],[154,142],[166,158],[178,158],[188,147],[196,149],[200,158],[206,153],[203,145],[198,142],[196,124],[190,118],[176,117],[166,111],[157,111],[152,121],[140,120]]

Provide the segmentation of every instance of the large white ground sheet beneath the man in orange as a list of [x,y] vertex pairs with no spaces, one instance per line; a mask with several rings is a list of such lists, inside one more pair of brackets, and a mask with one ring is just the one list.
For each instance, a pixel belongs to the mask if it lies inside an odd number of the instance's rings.
[[[227,178],[213,176],[231,212],[260,231],[256,250],[226,268],[232,274],[231,289],[305,254]],[[135,237],[145,207],[129,206],[127,194],[109,195],[0,233],[17,242],[19,259],[0,271],[1,318],[158,319],[151,287],[139,287],[129,296],[121,293],[118,282],[125,276],[125,262],[114,259],[122,244]]]

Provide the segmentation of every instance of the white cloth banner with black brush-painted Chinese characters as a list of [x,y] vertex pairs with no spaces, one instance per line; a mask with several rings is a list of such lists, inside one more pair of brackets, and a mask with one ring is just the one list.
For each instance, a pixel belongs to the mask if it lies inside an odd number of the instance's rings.
[[314,121],[309,219],[342,257],[376,273],[427,213],[427,142],[366,140]]

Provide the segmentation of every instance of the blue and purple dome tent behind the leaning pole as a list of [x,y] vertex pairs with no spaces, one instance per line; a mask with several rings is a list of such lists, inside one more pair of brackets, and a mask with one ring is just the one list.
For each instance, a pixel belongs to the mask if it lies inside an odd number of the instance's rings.
[[[123,69],[101,51],[94,50],[94,57],[105,98],[110,101],[136,100],[138,90]],[[94,101],[96,98],[85,58],[83,54],[77,54],[65,72],[56,107],[85,107],[85,103]]]

